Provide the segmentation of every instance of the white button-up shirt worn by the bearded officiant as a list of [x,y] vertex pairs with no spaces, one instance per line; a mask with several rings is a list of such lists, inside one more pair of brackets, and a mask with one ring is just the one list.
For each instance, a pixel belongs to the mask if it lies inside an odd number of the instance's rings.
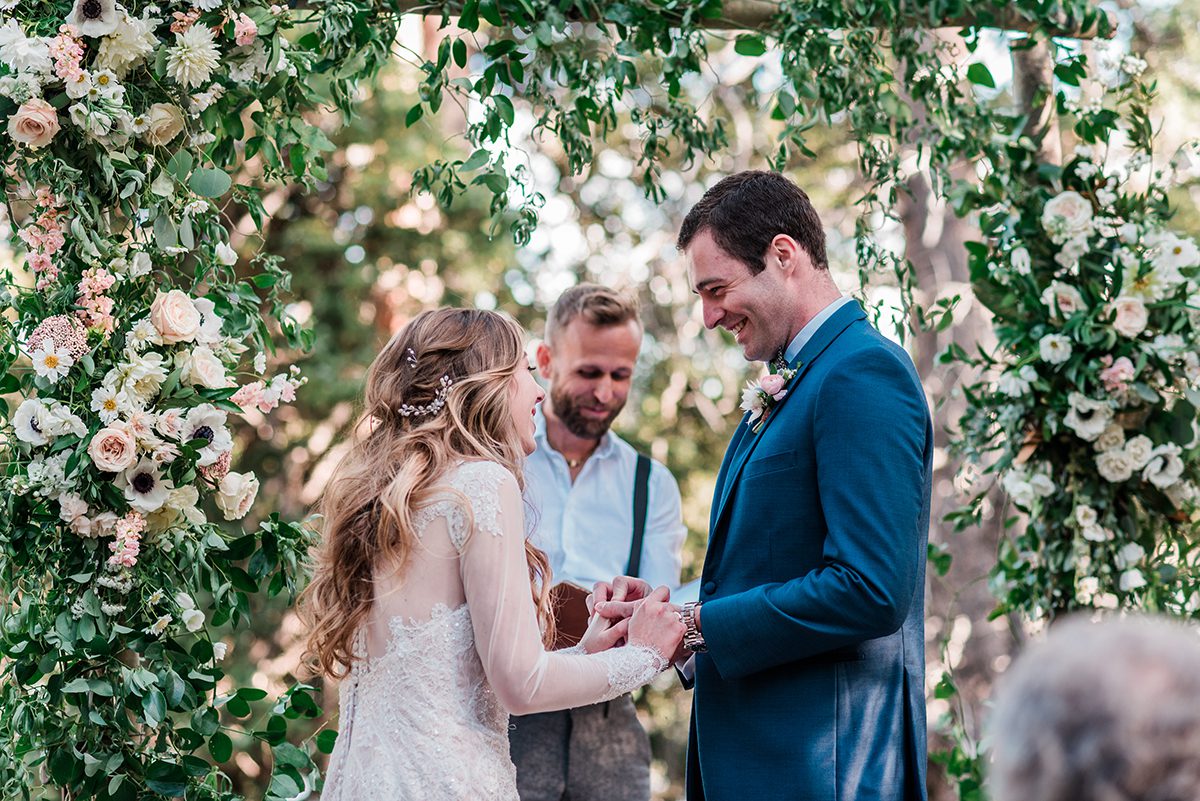
[[[587,589],[623,576],[634,537],[634,472],[637,451],[612,432],[601,438],[571,483],[563,454],[546,440],[546,417],[536,415],[538,450],[526,460],[526,501],[530,538],[546,552],[553,582]],[[683,525],[679,487],[664,465],[652,460],[641,578],[652,586],[679,585]]]

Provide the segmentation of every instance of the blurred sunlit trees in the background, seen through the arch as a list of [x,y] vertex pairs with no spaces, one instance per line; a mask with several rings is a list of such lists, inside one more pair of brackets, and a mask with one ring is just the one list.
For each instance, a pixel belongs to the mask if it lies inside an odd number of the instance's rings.
[[[1171,152],[1196,130],[1200,116],[1195,55],[1200,53],[1200,8],[1156,0],[1120,14],[1123,35],[1132,37],[1132,47],[1146,54],[1160,76],[1166,119],[1163,151]],[[376,86],[362,88],[352,125],[338,130],[336,118],[323,121],[338,146],[331,153],[329,181],[316,193],[290,188],[264,199],[272,212],[265,251],[284,258],[293,272],[293,314],[318,336],[313,351],[300,362],[308,384],[298,402],[269,422],[251,420],[239,432],[242,463],[263,481],[258,513],[274,510],[289,518],[310,513],[356,420],[367,365],[413,314],[443,305],[499,308],[535,338],[546,308],[563,289],[598,281],[636,291],[642,301],[647,337],[635,392],[617,429],[666,463],[678,478],[690,532],[683,578],[698,574],[716,469],[740,416],[742,385],[756,368],[743,361],[722,333],[703,329],[683,259],[674,249],[674,234],[683,215],[713,181],[740,169],[764,168],[781,127],[767,110],[780,83],[778,58],[738,55],[732,38],[714,37],[713,72],[706,82],[688,86],[704,98],[708,114],[726,121],[730,147],[719,163],[670,162],[662,174],[666,198],[654,203],[644,197],[638,180],[637,157],[644,143],[634,138],[632,126],[618,127],[598,145],[590,168],[574,179],[564,177],[562,153],[546,143],[527,141],[526,167],[545,194],[545,205],[532,241],[517,249],[504,234],[492,235],[487,198],[468,193],[443,209],[431,197],[409,192],[414,170],[438,156],[468,155],[461,131],[470,109],[457,114],[445,109],[432,121],[406,127],[404,116],[422,77],[413,66],[413,54],[432,53],[438,43],[433,20],[406,18],[394,64]],[[998,91],[1012,91],[1002,80],[1003,71],[992,72]],[[839,284],[858,294],[852,235],[862,186],[852,145],[840,128],[834,119],[814,130],[815,158],[794,161],[787,171],[822,213]],[[986,336],[989,324],[970,302],[966,284],[962,242],[972,239],[971,229],[947,209],[932,205],[919,179],[908,189],[895,210],[896,219],[877,221],[882,236],[905,249],[918,266],[923,303],[962,296],[955,325],[907,341],[944,446],[944,432],[958,416],[953,387],[959,377],[937,363],[937,354],[952,341],[970,348]],[[1200,231],[1198,198],[1176,200],[1181,227]],[[248,218],[239,219],[239,210],[230,212],[242,236],[257,236]],[[888,277],[878,276],[860,295],[881,313],[881,329],[888,332],[896,293]],[[281,361],[293,357],[283,356]],[[961,499],[954,484],[958,465],[944,447],[935,468],[938,520]],[[1006,619],[988,620],[994,602],[984,578],[995,560],[1004,517],[1000,508],[982,529],[955,535],[935,522],[931,531],[938,553],[952,558],[944,576],[930,571],[926,601],[930,727],[935,731],[947,711],[947,701],[935,692],[943,669],[954,670],[959,703],[968,707],[965,719],[977,724],[991,681],[1020,645],[1019,626]],[[253,631],[233,644],[228,671],[272,692],[294,679],[307,679],[300,673],[300,634],[289,609],[256,609]],[[640,697],[652,733],[660,799],[682,797],[689,703],[690,695],[670,676]],[[336,725],[336,687],[324,687],[324,704],[329,723]],[[936,737],[931,747],[938,747]],[[263,743],[236,743],[234,764],[228,767],[251,797],[262,795],[268,759]],[[948,797],[938,771],[930,773],[932,797]]]

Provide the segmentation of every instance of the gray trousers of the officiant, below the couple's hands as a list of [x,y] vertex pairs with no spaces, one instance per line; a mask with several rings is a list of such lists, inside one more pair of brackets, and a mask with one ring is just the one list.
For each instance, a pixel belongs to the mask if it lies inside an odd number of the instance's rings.
[[629,695],[509,723],[521,801],[649,801],[650,740]]

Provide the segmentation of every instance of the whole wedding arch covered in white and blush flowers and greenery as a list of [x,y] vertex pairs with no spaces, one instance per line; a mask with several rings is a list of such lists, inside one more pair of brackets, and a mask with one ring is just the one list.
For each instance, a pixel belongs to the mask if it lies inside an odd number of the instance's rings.
[[[540,201],[512,158],[518,110],[576,171],[630,120],[658,197],[664,158],[726,146],[689,91],[712,31],[778,53],[773,165],[810,155],[814,125],[848,124],[871,186],[863,275],[895,275],[914,327],[953,325],[955,301],[916,303],[911,265],[872,236],[906,175],[980,229],[972,291],[996,342],[942,357],[976,375],[958,436],[968,472],[1002,477],[1020,522],[992,573],[1000,610],[1194,614],[1200,252],[1166,229],[1189,156],[1154,151],[1144,62],[1076,46],[1111,32],[1090,4],[923,5],[0,0],[0,157],[23,255],[0,297],[0,393],[17,401],[0,406],[5,797],[234,797],[227,730],[265,693],[226,689],[214,632],[242,622],[252,594],[294,592],[312,535],[276,516],[236,535],[214,522],[257,492],[229,415],[287,403],[304,379],[266,374],[269,357],[311,341],[280,260],[234,249],[233,215],[262,229],[270,187],[325,176],[332,145],[306,114],[354,113],[407,11],[444,30],[408,125],[445,100],[474,109],[470,155],[415,188],[450,206],[486,187],[518,242]],[[1016,102],[970,55],[986,28],[1024,31]],[[980,492],[960,526],[984,505]],[[271,703],[256,733],[274,747],[269,795],[294,797],[335,735],[289,741],[289,722],[319,713],[310,688]],[[977,778],[970,760],[952,771]]]

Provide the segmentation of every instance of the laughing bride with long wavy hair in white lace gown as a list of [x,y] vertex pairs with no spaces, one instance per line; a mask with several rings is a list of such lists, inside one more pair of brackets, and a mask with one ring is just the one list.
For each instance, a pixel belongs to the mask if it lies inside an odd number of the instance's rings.
[[679,643],[660,588],[630,619],[546,650],[550,570],[521,499],[544,392],[522,338],[494,312],[426,312],[371,366],[302,603],[311,655],[342,680],[328,801],[516,801],[510,712],[616,698]]

